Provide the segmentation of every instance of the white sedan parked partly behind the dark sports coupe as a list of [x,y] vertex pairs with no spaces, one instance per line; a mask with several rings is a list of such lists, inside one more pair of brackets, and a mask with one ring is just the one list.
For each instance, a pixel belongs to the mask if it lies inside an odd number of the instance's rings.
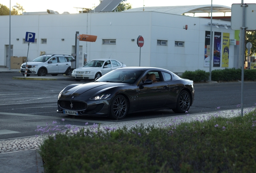
[[118,60],[102,58],[94,59],[87,62],[84,66],[74,69],[72,78],[76,81],[82,79],[96,79],[107,72],[121,67],[126,67],[126,65]]

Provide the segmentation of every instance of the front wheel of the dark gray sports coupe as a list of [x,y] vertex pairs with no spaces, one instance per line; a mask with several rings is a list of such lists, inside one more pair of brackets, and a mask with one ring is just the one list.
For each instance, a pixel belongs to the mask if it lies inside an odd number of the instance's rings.
[[126,114],[128,113],[128,102],[126,98],[122,95],[117,95],[114,97],[111,105],[110,105],[110,119],[124,119]]

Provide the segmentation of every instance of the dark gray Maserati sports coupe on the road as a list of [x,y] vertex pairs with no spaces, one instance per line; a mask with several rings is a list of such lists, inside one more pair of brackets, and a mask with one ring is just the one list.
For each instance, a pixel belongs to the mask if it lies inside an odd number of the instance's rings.
[[194,82],[153,67],[124,67],[94,82],[71,84],[58,96],[58,113],[108,116],[172,109],[185,113],[194,101]]

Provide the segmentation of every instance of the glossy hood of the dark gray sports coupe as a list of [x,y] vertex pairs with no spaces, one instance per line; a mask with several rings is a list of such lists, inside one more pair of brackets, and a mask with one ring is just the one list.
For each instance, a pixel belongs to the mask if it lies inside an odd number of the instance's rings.
[[93,97],[103,92],[110,92],[107,90],[111,88],[121,87],[124,85],[129,84],[111,82],[90,82],[86,84],[79,84],[72,88],[66,87],[66,89],[64,89],[64,91],[62,92],[62,98],[68,99],[71,96],[74,98],[77,96]]

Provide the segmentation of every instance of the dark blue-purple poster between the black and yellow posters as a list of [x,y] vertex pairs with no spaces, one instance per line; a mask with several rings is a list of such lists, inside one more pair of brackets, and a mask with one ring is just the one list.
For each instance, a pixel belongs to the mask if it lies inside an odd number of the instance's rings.
[[221,32],[214,32],[213,66],[221,66]]

